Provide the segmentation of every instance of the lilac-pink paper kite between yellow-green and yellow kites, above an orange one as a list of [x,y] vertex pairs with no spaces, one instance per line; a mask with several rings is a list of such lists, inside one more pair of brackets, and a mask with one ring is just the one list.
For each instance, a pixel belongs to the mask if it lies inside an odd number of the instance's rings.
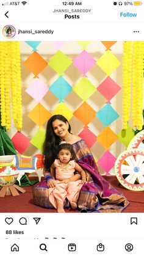
[[73,65],[81,71],[83,76],[86,76],[87,71],[95,65],[95,59],[84,50],[73,60]]

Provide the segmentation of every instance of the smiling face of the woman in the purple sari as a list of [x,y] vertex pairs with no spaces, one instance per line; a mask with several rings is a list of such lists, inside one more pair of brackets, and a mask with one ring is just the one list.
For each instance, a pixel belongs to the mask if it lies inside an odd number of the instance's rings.
[[68,122],[62,122],[59,119],[56,119],[52,122],[52,128],[54,129],[54,133],[62,139],[68,136]]

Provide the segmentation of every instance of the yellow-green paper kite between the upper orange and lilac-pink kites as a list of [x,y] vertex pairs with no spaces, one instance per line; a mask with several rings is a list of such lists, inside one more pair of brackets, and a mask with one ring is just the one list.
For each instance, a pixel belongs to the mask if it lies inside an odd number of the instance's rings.
[[62,51],[57,51],[54,56],[49,60],[49,67],[53,68],[60,76],[67,68],[71,65],[72,61],[62,53]]

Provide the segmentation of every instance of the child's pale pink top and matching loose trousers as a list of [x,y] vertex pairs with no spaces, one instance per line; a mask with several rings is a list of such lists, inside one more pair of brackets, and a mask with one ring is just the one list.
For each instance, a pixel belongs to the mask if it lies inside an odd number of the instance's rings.
[[[75,161],[70,161],[67,166],[62,166],[59,159],[54,161],[56,167],[56,178],[65,179],[72,178],[74,176]],[[79,197],[79,191],[82,188],[82,181],[70,181],[69,183],[61,183],[62,181],[56,180],[56,186],[49,188],[49,201],[57,208],[56,199],[60,202],[64,202],[67,197],[70,203],[76,202]]]

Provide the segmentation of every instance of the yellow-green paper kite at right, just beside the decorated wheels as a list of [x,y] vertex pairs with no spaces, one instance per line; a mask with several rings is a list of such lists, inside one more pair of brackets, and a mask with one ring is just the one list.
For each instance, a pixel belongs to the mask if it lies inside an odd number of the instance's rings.
[[121,143],[128,147],[129,142],[132,140],[134,135],[134,130],[128,125],[126,130],[121,130],[120,133],[118,133],[118,139]]

